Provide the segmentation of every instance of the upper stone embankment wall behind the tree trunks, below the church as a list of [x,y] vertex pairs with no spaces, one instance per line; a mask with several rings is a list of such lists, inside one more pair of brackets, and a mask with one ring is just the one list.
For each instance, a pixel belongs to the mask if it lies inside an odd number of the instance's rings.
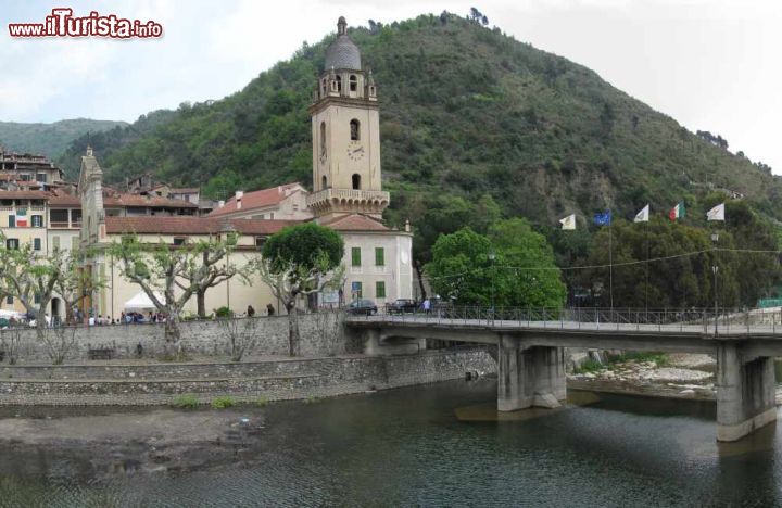
[[[260,317],[239,319],[239,328],[251,323],[251,333],[256,338],[253,355],[288,355],[288,317]],[[362,346],[343,327],[340,313],[303,314],[299,316],[302,356],[333,356],[361,353]],[[159,356],[165,344],[164,325],[111,325],[100,327],[76,327],[74,346],[66,361],[85,361],[88,351],[111,348],[114,358],[136,358],[137,346],[141,344],[144,356]],[[13,331],[0,331],[0,351],[12,338]],[[53,333],[53,331],[49,331]],[[70,339],[70,334],[65,334]],[[186,352],[197,355],[219,356],[230,352],[229,338],[224,327],[215,320],[181,322],[181,345]],[[20,364],[50,361],[45,344],[36,339],[33,329],[21,332],[17,352]]]

